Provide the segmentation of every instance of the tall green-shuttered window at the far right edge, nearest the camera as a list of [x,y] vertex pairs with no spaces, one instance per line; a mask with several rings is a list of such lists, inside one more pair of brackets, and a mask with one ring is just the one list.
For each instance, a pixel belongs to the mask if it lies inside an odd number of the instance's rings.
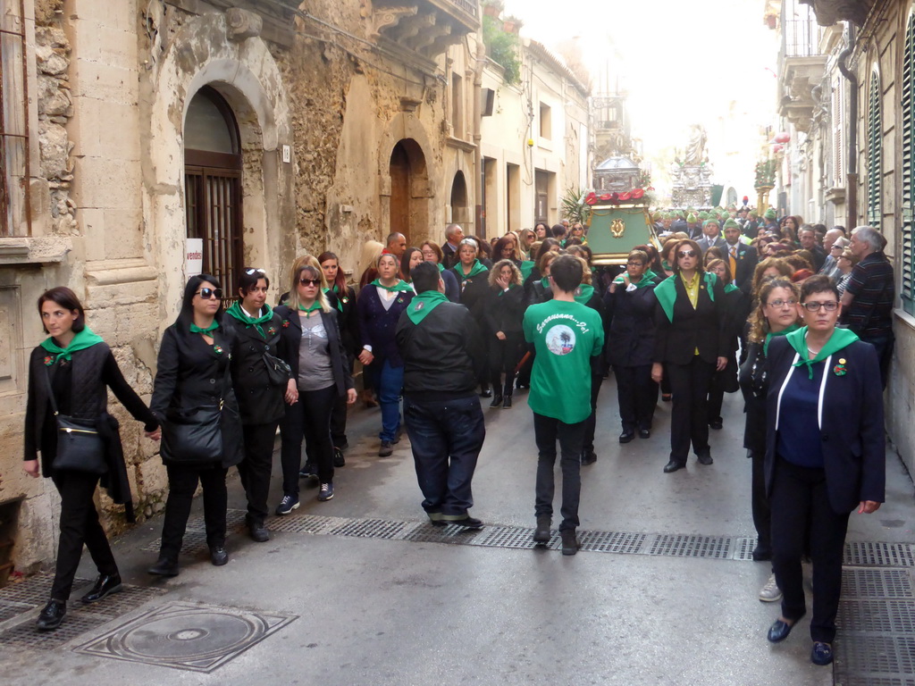
[[915,217],[912,216],[912,156],[915,144],[915,14],[909,15],[902,53],[902,284],[899,295],[906,311],[915,315]]

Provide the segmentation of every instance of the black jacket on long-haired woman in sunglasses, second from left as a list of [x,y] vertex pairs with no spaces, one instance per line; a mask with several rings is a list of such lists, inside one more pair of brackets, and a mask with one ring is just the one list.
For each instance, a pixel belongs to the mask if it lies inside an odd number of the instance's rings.
[[[179,330],[181,327],[181,330]],[[178,323],[166,329],[156,361],[156,381],[150,409],[159,423],[169,417],[188,413],[203,406],[222,402],[221,466],[230,467],[242,461],[242,418],[238,411],[231,375],[231,336],[222,325],[212,332],[213,345],[199,334],[184,330]],[[164,462],[171,456],[160,449]]]

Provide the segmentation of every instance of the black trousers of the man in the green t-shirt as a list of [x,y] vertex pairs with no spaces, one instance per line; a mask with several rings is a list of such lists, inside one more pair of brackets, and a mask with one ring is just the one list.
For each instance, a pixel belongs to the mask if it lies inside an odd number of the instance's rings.
[[533,413],[533,434],[537,442],[537,483],[534,487],[535,517],[553,516],[555,491],[554,466],[556,441],[559,441],[559,468],[563,473],[563,516],[559,531],[578,528],[578,502],[581,499],[581,446],[585,423],[567,424],[553,417]]

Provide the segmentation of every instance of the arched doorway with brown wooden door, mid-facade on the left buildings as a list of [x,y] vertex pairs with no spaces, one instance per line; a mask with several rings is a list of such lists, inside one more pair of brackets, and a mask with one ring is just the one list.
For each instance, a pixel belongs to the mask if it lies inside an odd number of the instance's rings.
[[428,181],[423,150],[412,138],[398,141],[391,151],[390,230],[406,236],[407,245],[428,231]]

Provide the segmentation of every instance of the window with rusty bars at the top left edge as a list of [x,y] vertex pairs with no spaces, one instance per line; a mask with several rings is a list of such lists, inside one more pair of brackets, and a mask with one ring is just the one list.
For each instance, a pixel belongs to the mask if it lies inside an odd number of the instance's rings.
[[0,236],[28,235],[28,93],[23,0],[0,15]]

